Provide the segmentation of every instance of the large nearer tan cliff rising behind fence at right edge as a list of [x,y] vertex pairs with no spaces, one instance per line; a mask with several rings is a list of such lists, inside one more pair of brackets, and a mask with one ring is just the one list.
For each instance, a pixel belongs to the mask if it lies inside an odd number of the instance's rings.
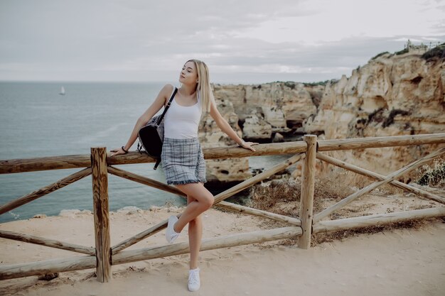
[[[327,139],[443,133],[444,58],[428,60],[423,54],[425,50],[417,49],[380,55],[353,70],[349,78],[327,84],[318,113],[306,120],[304,131]],[[359,159],[350,161],[388,173],[432,149],[354,150],[350,156]]]

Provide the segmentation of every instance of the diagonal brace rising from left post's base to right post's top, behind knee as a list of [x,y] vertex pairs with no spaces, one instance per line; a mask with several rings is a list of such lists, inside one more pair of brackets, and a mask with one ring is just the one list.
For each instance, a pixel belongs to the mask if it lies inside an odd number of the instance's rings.
[[[243,182],[241,182],[238,185],[235,185],[234,187],[229,188],[228,190],[225,190],[221,192],[220,194],[217,194],[215,196],[215,202],[213,202],[213,205],[218,204],[222,202],[224,199],[227,199],[231,197],[233,194],[236,194],[237,192],[240,192],[242,190],[245,190],[245,188],[250,187],[254,185],[257,182],[260,182],[261,180],[267,179],[268,177],[274,175],[275,173],[284,170],[285,168],[289,167],[289,165],[292,165],[296,163],[297,161],[304,158],[304,154],[294,155],[291,158],[284,160],[284,162],[279,163],[277,165],[274,165],[274,167],[269,168],[269,170],[266,170],[255,177],[251,177],[250,179],[247,179]],[[181,214],[178,214],[177,216],[181,216]],[[134,243],[137,243],[143,239],[146,239],[149,236],[152,236],[162,229],[166,228],[168,220],[161,221],[159,224],[156,224],[155,226],[152,226],[150,229],[147,229],[145,231],[140,232],[139,234],[136,234],[132,238],[126,239],[125,241],[122,241],[120,243],[117,243],[116,246],[112,247],[112,254],[119,253],[120,251],[124,250],[124,248],[128,248],[129,246],[134,245]]]

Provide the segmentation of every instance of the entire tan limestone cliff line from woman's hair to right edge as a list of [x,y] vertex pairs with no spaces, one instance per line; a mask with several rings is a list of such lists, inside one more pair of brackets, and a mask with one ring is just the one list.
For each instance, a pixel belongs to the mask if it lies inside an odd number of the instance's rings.
[[[377,55],[338,81],[215,84],[214,94],[230,124],[245,139],[255,141],[282,141],[282,135],[284,141],[296,141],[304,133],[316,133],[321,139],[443,133],[445,45]],[[233,144],[209,120],[203,121],[201,131],[201,138],[213,146],[216,141]],[[385,174],[431,149],[353,150],[339,157]],[[222,163],[216,165],[219,169],[210,169],[215,180],[245,180],[249,175],[248,163]]]

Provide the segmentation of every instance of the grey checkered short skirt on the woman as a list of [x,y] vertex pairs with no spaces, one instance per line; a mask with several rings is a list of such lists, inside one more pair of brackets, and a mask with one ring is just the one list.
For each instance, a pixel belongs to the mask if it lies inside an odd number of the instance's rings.
[[161,160],[168,185],[207,182],[198,138],[163,138]]

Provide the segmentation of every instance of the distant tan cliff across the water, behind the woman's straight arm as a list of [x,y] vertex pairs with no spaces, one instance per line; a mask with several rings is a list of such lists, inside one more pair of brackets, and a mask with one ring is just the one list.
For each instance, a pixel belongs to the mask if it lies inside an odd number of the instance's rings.
[[[218,110],[245,140],[270,143],[273,139],[296,140],[296,131],[311,114],[316,113],[323,86],[296,82],[273,82],[258,85],[214,86]],[[230,146],[235,143],[218,128],[208,114],[200,128],[203,147]],[[240,182],[251,177],[247,158],[207,160],[207,179],[210,186]]]

